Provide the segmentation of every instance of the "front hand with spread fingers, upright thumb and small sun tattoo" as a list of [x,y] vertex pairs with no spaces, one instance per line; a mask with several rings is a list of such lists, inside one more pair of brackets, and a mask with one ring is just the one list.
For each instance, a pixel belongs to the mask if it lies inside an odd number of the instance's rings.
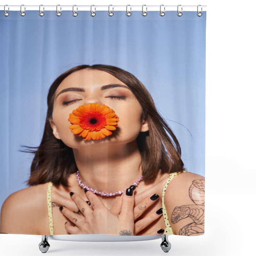
[[[131,196],[126,195],[127,191],[131,191]],[[82,216],[71,212],[67,208],[61,208],[62,214],[68,218],[69,222],[65,224],[65,228],[70,234],[111,234],[111,235],[134,235],[134,194],[133,189],[127,189],[122,195],[121,212],[118,215],[113,214],[101,202],[97,195],[91,191],[86,191],[89,206],[81,196],[73,193],[71,196],[76,203]],[[125,194],[125,195],[124,195]]]

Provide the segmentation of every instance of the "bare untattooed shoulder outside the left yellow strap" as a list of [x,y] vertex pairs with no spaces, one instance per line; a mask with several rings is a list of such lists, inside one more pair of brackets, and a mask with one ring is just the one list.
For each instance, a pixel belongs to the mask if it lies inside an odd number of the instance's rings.
[[38,220],[47,214],[47,185],[23,188],[5,199],[1,208],[1,233],[37,234]]

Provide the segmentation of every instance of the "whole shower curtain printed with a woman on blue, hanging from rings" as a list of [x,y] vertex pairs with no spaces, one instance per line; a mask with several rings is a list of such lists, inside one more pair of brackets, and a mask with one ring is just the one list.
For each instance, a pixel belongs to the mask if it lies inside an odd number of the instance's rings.
[[0,12],[1,233],[204,234],[206,12],[111,12]]

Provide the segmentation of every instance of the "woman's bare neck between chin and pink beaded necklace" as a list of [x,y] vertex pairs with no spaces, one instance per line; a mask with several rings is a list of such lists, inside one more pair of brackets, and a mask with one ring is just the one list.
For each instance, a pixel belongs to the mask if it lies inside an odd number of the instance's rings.
[[123,191],[142,174],[136,140],[126,144],[94,144],[73,152],[80,180],[99,192]]

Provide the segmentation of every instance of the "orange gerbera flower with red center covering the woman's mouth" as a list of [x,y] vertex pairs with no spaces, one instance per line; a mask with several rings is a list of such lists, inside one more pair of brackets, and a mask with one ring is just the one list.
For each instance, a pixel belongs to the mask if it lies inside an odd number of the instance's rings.
[[83,136],[84,140],[101,140],[116,130],[119,117],[104,104],[88,103],[73,110],[68,121],[71,132]]

